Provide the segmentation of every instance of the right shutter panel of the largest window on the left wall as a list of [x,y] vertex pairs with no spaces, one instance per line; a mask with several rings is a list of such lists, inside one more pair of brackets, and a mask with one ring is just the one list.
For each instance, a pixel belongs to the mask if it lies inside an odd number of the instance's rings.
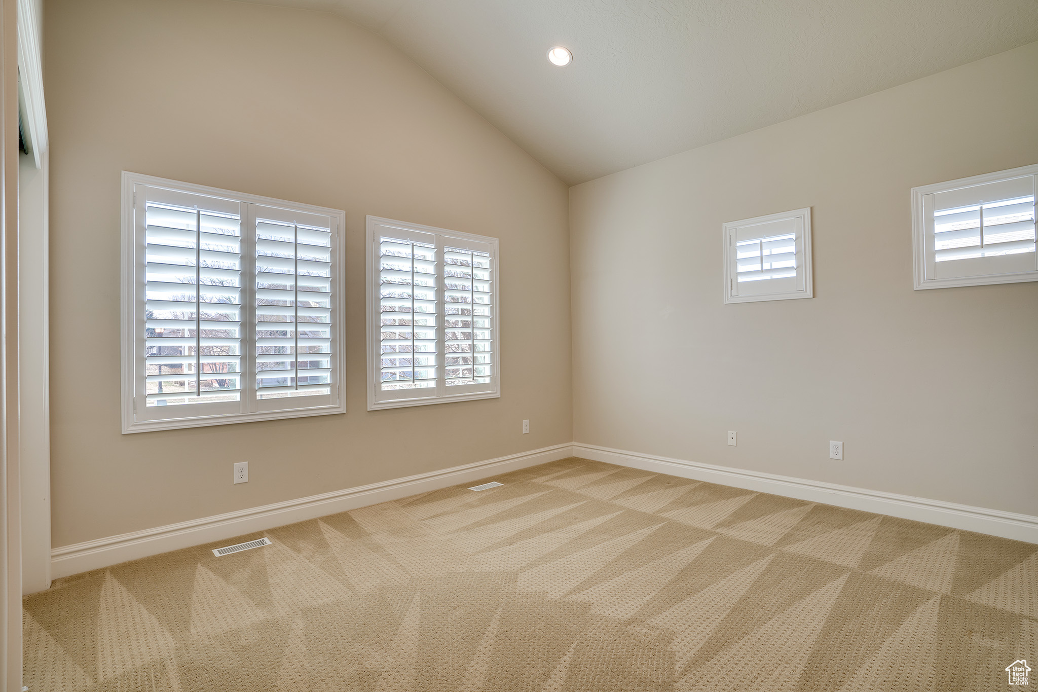
[[255,247],[251,370],[256,407],[323,405],[338,379],[335,219],[261,204],[249,207]]

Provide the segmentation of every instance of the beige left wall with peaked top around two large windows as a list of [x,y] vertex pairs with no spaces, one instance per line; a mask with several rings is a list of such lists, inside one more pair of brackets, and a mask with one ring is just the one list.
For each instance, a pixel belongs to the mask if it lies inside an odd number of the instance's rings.
[[[55,547],[572,440],[557,178],[331,15],[46,5]],[[119,434],[124,169],[346,210],[347,414]],[[499,399],[366,411],[367,214],[500,239]],[[237,461],[248,483],[231,485]]]

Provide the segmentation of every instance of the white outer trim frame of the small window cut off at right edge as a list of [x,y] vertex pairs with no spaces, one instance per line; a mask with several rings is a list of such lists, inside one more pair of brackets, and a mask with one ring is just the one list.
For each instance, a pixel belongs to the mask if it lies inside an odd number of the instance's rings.
[[[924,185],[911,189],[912,287],[916,290],[1038,281],[1038,271],[1014,272],[1010,274],[983,274],[944,279],[926,278],[926,212],[924,210],[923,198],[928,194],[946,192],[955,190],[956,188],[967,188],[985,183],[999,183],[1025,175],[1038,175],[1038,164],[1000,170],[993,173],[984,173],[983,175],[960,177],[957,181],[934,183],[933,185]],[[1036,255],[1038,255],[1038,252],[1036,252]],[[1036,256],[1036,262],[1038,262],[1038,256]]]

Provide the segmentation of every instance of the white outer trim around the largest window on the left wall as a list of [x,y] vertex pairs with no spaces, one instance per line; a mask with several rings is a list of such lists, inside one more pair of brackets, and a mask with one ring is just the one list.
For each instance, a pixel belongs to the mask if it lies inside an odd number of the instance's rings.
[[[332,319],[335,321],[333,326],[334,339],[336,342],[335,352],[332,354],[333,368],[335,372],[335,382],[333,386],[334,398],[337,404],[326,405],[326,406],[316,406],[316,407],[305,407],[305,408],[293,408],[279,411],[255,411],[249,413],[236,413],[236,414],[223,414],[223,415],[211,415],[211,416],[185,416],[183,418],[171,418],[164,420],[136,420],[135,406],[138,403],[135,402],[136,395],[136,308],[137,308],[137,288],[136,285],[136,262],[137,257],[135,256],[135,251],[137,244],[135,242],[135,228],[134,228],[134,187],[137,185],[154,186],[159,188],[169,188],[172,190],[196,193],[201,195],[212,195],[227,197],[230,199],[238,200],[240,202],[250,203],[250,204],[262,204],[266,206],[279,206],[282,209],[299,210],[300,212],[306,212],[311,214],[320,214],[323,216],[331,217],[337,224],[337,228],[334,229],[332,233],[332,251],[335,253],[334,261],[332,262],[332,280],[335,290],[332,292],[331,303],[332,303]],[[243,240],[244,240],[244,221],[243,221]],[[346,413],[346,397],[344,396],[345,385],[346,385],[346,371],[344,365],[346,363],[346,325],[345,325],[345,304],[346,304],[346,294],[345,294],[345,266],[346,266],[346,253],[345,253],[345,236],[346,236],[346,212],[342,210],[327,209],[324,206],[315,206],[312,204],[302,204],[299,202],[293,202],[283,199],[274,199],[272,197],[262,197],[260,195],[252,195],[244,192],[235,192],[231,190],[223,190],[220,188],[211,188],[203,185],[195,185],[193,183],[183,183],[180,181],[171,181],[163,177],[156,177],[154,175],[143,175],[141,173],[132,173],[129,171],[122,171],[122,199],[121,199],[121,234],[120,234],[120,256],[121,256],[121,304],[120,304],[120,359],[121,359],[121,412],[122,412],[122,434],[131,433],[148,433],[152,431],[168,431],[168,430],[180,430],[185,427],[204,427],[209,425],[226,425],[230,423],[247,423],[258,420],[278,420],[281,418],[300,418],[304,416],[320,416],[329,414]],[[255,315],[246,321],[242,320],[243,332],[255,333]],[[244,340],[244,339],[243,339]],[[249,377],[246,373],[246,377]],[[243,395],[247,390],[243,390]]]

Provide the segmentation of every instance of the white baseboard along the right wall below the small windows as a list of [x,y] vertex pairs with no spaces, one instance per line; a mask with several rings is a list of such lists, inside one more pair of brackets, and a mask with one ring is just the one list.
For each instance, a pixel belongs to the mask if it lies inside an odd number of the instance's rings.
[[1038,544],[1038,517],[967,504],[930,500],[910,495],[838,486],[836,483],[700,464],[680,459],[641,454],[592,444],[573,443],[573,454],[596,462],[628,466],[683,478],[694,478],[799,500],[835,504],[877,515],[890,515],[927,524],[976,531],[988,535]]

